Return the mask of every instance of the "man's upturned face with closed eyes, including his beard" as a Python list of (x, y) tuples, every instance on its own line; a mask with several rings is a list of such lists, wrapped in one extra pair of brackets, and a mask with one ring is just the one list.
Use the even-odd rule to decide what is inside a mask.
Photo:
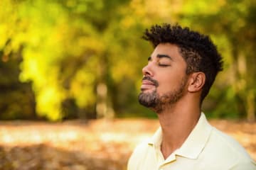
[(143, 106), (161, 113), (184, 95), (188, 79), (186, 62), (176, 45), (157, 45), (142, 72), (139, 103)]

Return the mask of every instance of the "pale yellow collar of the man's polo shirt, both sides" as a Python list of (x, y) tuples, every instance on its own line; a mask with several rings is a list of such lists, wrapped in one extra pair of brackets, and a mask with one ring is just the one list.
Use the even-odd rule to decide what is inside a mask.
[[(202, 152), (203, 148), (206, 146), (206, 142), (208, 137), (210, 136), (210, 132), (212, 130), (212, 126), (206, 120), (206, 115), (201, 113), (201, 116), (198, 120), (198, 123), (193, 128), (192, 132), (188, 135), (185, 142), (179, 149), (176, 149), (174, 154), (187, 157), (189, 159), (198, 158), (199, 154)], [(154, 133), (153, 137), (149, 139), (148, 144), (154, 147), (159, 147), (162, 141), (162, 130), (159, 128)]]

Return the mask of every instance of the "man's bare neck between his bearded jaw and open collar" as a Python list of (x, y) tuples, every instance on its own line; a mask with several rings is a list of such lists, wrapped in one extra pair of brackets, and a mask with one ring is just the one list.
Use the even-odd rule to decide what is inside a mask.
[(178, 102), (158, 113), (159, 123), (163, 132), (161, 152), (164, 159), (181, 147), (196, 126), (201, 114), (200, 107), (195, 103), (185, 102), (181, 104), (182, 101)]

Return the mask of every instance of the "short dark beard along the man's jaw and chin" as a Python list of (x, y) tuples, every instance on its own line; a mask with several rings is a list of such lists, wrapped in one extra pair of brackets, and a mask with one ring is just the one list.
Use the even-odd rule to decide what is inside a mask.
[(146, 108), (151, 108), (156, 113), (161, 113), (165, 108), (169, 108), (176, 103), (184, 95), (184, 88), (186, 86), (187, 77), (181, 79), (181, 84), (177, 89), (169, 91), (166, 94), (157, 94), (156, 89), (152, 92), (139, 94), (139, 103)]

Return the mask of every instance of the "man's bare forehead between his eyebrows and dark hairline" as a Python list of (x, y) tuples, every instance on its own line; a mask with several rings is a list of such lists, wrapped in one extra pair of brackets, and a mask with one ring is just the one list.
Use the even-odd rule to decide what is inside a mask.
[(161, 43), (157, 45), (151, 57), (156, 57), (157, 55), (169, 55), (174, 60), (183, 60), (183, 57), (181, 57), (179, 52), (179, 47), (170, 43)]

